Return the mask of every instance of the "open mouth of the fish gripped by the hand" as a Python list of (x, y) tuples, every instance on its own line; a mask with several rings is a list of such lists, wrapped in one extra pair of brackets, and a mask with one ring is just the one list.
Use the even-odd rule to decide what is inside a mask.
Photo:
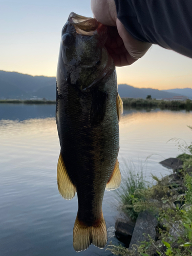
[(78, 34), (94, 35), (97, 33), (97, 29), (100, 23), (96, 18), (84, 17), (71, 12), (69, 15), (69, 22), (75, 27)]

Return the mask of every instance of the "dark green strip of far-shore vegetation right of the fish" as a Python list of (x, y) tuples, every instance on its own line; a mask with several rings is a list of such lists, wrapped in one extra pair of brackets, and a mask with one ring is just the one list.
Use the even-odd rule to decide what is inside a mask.
[(123, 106), (130, 108), (142, 109), (142, 108), (160, 108), (170, 110), (192, 110), (192, 100), (187, 99), (186, 101), (173, 100), (164, 101), (151, 99), (148, 95), (146, 99), (135, 99), (135, 98), (122, 98)]

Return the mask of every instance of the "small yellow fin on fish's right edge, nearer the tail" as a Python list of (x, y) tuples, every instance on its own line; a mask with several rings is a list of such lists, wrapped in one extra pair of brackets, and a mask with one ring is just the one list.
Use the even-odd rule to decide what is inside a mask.
[(119, 162), (117, 160), (113, 174), (110, 177), (108, 183), (106, 183), (105, 189), (106, 190), (114, 190), (114, 189), (118, 188), (120, 186), (120, 184), (121, 184), (121, 173), (119, 170)]

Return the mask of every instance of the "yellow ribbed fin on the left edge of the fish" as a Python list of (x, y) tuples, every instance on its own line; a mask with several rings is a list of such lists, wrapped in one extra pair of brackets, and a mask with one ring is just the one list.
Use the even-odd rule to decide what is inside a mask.
[(61, 153), (57, 164), (57, 185), (61, 196), (66, 200), (71, 200), (75, 196), (76, 187), (73, 185), (63, 162)]

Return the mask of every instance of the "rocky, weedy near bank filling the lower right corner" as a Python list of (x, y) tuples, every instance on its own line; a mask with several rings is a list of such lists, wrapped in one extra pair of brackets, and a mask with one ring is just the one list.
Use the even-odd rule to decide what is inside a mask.
[[(129, 220), (116, 222), (117, 237), (124, 232), (129, 244), (124, 242), (128, 248), (109, 246), (113, 254), (192, 255), (192, 144), (177, 158), (182, 165), (162, 179), (153, 176), (155, 185), (149, 185), (142, 172), (139, 175), (129, 173), (118, 193), (121, 212)], [(132, 233), (130, 226), (134, 226)]]

